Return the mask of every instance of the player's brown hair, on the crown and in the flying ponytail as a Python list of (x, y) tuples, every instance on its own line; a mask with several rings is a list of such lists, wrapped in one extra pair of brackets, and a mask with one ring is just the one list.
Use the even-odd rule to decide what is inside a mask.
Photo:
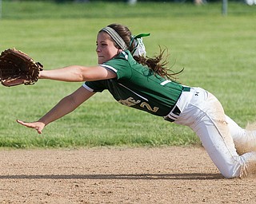
[[(130, 29), (128, 29), (126, 26), (122, 26), (120, 24), (110, 24), (110, 28), (114, 29), (120, 37), (122, 37), (122, 40), (125, 41), (128, 50), (132, 52), (134, 50), (134, 43), (130, 45), (130, 40), (132, 37), (132, 34), (130, 32)], [(119, 46), (114, 42), (114, 45), (118, 48)], [(167, 49), (161, 49), (159, 46), (159, 53), (158, 55), (154, 57), (142, 57), (142, 56), (134, 56), (134, 60), (138, 61), (139, 64), (146, 65), (150, 70), (152, 70), (154, 73), (158, 74), (161, 77), (164, 77), (166, 79), (170, 80), (177, 80), (177, 75), (179, 73), (182, 73), (183, 69), (179, 71), (178, 73), (174, 73), (174, 71), (170, 70), (167, 65), (167, 57), (169, 56), (168, 53), (166, 54)]]

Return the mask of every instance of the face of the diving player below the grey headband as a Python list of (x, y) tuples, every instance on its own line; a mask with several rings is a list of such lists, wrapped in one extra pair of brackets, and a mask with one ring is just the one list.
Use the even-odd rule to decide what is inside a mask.
[(98, 33), (96, 46), (98, 65), (109, 61), (120, 52), (120, 49), (114, 46), (114, 41), (111, 40), (110, 35), (106, 32)]

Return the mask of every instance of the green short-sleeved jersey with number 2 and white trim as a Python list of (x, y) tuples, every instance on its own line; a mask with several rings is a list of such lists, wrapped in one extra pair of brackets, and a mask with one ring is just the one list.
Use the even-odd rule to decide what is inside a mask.
[(107, 89), (120, 104), (166, 116), (182, 93), (182, 84), (166, 80), (147, 66), (134, 60), (128, 50), (100, 65), (117, 74), (110, 80), (86, 81), (84, 87), (92, 92)]

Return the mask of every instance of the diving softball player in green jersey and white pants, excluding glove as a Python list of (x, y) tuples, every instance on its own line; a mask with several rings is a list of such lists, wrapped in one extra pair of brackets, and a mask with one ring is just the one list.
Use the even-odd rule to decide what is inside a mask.
[(39, 134), (43, 128), (74, 111), (95, 92), (107, 89), (120, 104), (162, 116), (175, 124), (193, 129), (210, 159), (226, 178), (256, 173), (256, 131), (246, 131), (225, 115), (222, 105), (210, 92), (188, 87), (166, 72), (163, 52), (146, 57), (142, 38), (132, 36), (126, 26), (112, 24), (101, 29), (97, 37), (98, 65), (73, 65), (43, 70), (40, 79), (86, 81), (38, 121), (17, 120)]

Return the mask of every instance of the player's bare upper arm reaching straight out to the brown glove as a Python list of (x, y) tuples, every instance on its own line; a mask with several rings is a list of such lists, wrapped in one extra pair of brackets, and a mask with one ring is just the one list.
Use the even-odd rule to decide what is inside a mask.
[(70, 82), (106, 80), (116, 77), (116, 73), (111, 72), (101, 66), (85, 67), (72, 65), (61, 69), (42, 70), (39, 79), (62, 80)]

